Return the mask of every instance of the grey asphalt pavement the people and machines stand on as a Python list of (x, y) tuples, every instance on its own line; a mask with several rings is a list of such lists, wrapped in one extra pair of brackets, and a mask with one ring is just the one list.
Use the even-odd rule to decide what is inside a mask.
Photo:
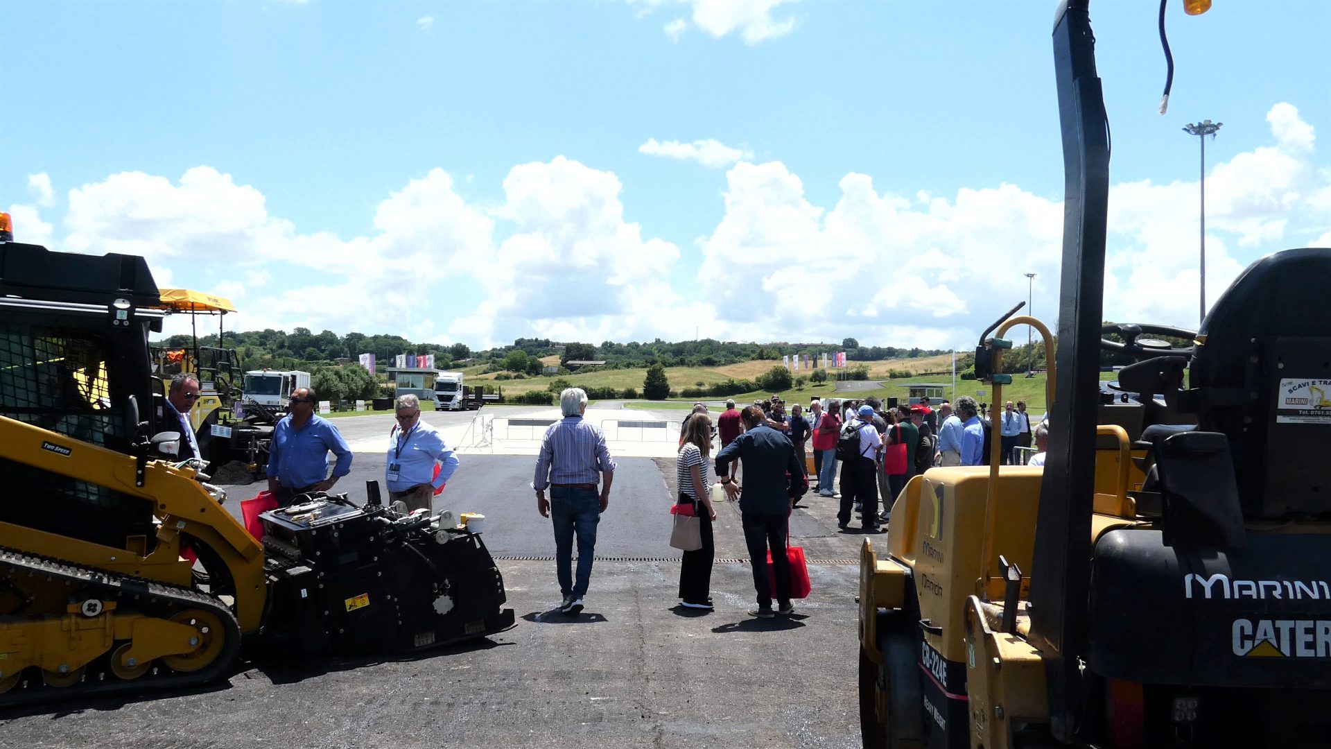
[[(510, 409), (506, 416), (518, 413)], [(676, 416), (662, 412), (663, 418)], [(446, 424), (470, 414), (431, 413)], [(389, 417), (338, 420), (349, 440)], [(836, 529), (836, 500), (805, 497), (792, 544), (813, 593), (796, 616), (753, 620), (739, 510), (719, 508), (716, 610), (677, 605), (666, 542), (673, 460), (622, 458), (598, 532), (587, 610), (560, 614), (550, 521), (527, 456), (462, 456), (437, 509), (482, 512), (518, 625), (417, 657), (242, 662), (205, 690), (0, 713), (0, 746), (817, 746), (860, 745), (856, 605), (861, 536)], [(359, 502), (382, 478), (362, 453), (335, 490)], [(668, 484), (671, 486), (668, 486)], [(260, 484), (230, 489), (228, 505)], [(538, 557), (518, 560), (514, 557)], [(843, 561), (839, 561), (843, 560)]]

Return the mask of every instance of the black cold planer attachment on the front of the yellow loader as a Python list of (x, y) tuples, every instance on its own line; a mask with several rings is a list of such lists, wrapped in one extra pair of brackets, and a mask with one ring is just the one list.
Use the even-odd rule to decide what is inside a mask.
[(401, 514), (375, 494), (365, 506), (309, 494), (261, 516), (269, 644), (405, 652), (514, 625), (503, 576), (479, 534)]

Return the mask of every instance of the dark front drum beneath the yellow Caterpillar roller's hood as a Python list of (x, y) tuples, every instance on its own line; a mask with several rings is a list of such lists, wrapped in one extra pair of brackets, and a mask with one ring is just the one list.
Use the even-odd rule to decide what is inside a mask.
[[(924, 745), (924, 693), (920, 689), (920, 642), (900, 612), (878, 612), (882, 665), (860, 648), (860, 734), (865, 749), (906, 749)], [(878, 716), (878, 692), (885, 714)]]

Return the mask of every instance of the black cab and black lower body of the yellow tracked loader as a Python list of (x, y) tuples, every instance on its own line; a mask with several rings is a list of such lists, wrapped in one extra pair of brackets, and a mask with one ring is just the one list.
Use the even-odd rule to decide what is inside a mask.
[(129, 453), (157, 430), (165, 393), (146, 343), (161, 329), (156, 301), (142, 257), (0, 243), (0, 417), (48, 434), (15, 426), (0, 445), (0, 524), (110, 545), (148, 533), (150, 506), (114, 490), (114, 477), (44, 470), (28, 454), (36, 446), (77, 468), (80, 444)]

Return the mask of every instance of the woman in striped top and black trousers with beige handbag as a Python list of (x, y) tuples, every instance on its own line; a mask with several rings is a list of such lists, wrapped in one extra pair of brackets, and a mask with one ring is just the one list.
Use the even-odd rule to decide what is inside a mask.
[(708, 593), (712, 582), (712, 558), (716, 556), (716, 546), (712, 544), (712, 521), (716, 520), (716, 509), (712, 506), (712, 497), (707, 488), (711, 485), (712, 452), (712, 420), (705, 413), (693, 413), (684, 422), (684, 442), (679, 448), (676, 461), (676, 485), (679, 486), (677, 504), (691, 505), (693, 513), (700, 518), (703, 548), (696, 552), (684, 552), (683, 562), (679, 568), (679, 597), (684, 598), (684, 606), (689, 609), (712, 609), (712, 597)]

